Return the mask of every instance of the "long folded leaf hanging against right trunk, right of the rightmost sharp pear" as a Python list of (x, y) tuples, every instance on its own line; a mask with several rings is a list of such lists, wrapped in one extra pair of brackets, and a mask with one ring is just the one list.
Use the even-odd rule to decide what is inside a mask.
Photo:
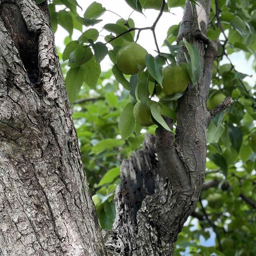
[(189, 54), (190, 54), (190, 61), (188, 60), (186, 54), (185, 57), (190, 67), (190, 74), (193, 85), (199, 80), (201, 75), (201, 65), (200, 65), (200, 56), (197, 48), (190, 44), (185, 38), (183, 38), (183, 43), (186, 46)]

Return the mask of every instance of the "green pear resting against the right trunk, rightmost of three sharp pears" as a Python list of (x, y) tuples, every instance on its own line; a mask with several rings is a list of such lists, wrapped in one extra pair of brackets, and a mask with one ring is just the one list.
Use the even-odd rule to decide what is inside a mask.
[(162, 87), (166, 95), (184, 92), (190, 81), (187, 70), (179, 65), (168, 65), (162, 69)]

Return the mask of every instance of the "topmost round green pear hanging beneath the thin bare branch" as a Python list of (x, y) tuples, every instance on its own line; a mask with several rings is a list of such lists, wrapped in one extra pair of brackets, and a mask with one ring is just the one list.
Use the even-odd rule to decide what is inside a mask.
[(146, 67), (145, 56), (148, 52), (139, 44), (131, 42), (122, 47), (116, 57), (117, 66), (124, 74), (133, 75)]

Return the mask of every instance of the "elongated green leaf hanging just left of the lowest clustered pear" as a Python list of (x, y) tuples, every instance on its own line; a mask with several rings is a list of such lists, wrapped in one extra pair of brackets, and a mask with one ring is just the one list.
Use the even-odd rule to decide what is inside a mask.
[(135, 126), (135, 119), (133, 116), (133, 105), (130, 102), (122, 111), (118, 126), (123, 139), (128, 138), (132, 133)]

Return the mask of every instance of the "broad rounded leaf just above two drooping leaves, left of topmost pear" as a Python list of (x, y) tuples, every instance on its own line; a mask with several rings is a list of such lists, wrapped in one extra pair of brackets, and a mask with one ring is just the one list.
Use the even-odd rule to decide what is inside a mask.
[(80, 44), (77, 49), (69, 55), (68, 65), (70, 67), (81, 66), (93, 58), (91, 48), (86, 45)]

